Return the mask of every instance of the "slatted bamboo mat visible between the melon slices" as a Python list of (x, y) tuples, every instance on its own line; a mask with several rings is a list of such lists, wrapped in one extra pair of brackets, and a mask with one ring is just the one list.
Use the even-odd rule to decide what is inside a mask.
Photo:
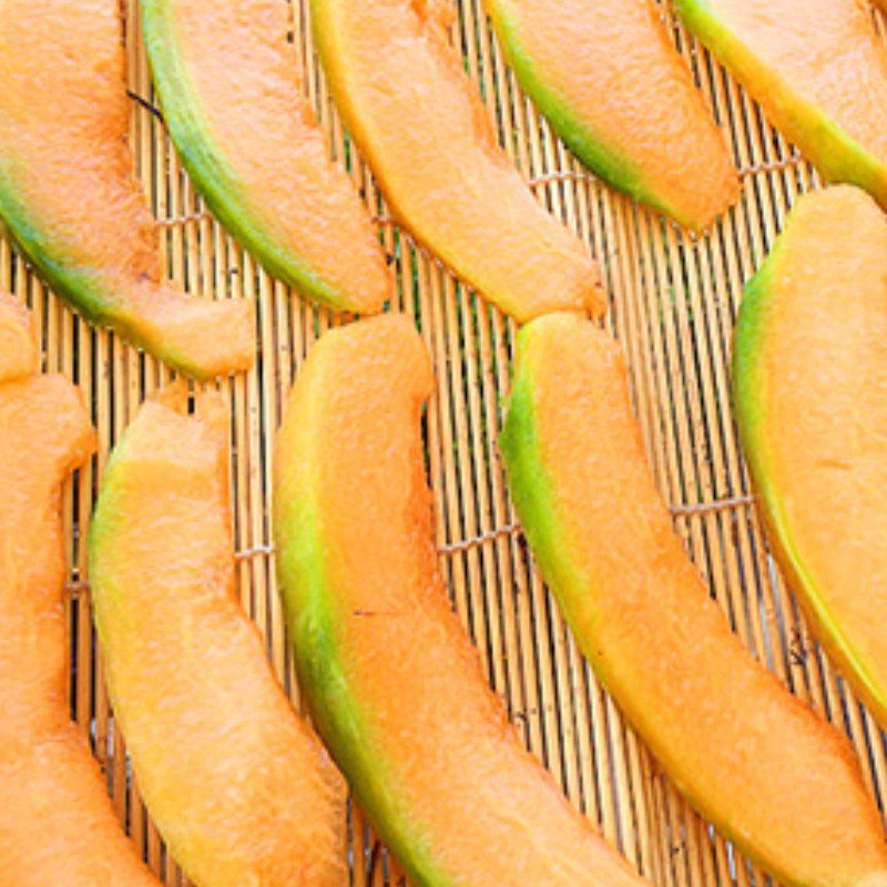
[[(150, 104), (133, 2), (124, 13), (130, 89)], [(343, 157), (346, 140), (313, 54), (305, 6), (293, 0), (293, 47), (330, 149)], [(869, 786), (881, 796), (887, 788), (883, 737), (810, 639), (766, 554), (728, 406), (731, 335), (743, 283), (761, 264), (796, 195), (816, 185), (815, 175), (707, 53), (675, 29), (744, 179), (741, 203), (711, 236), (684, 237), (582, 171), (520, 94), (478, 0), (458, 0), (458, 7), (453, 40), (480, 83), (503, 145), (539, 200), (588, 242), (605, 271), (610, 323), (629, 356), (644, 441), (677, 532), (735, 631), (793, 692), (848, 733)], [(663, 16), (673, 26), (666, 7)], [(884, 35), (879, 16), (876, 24)], [(196, 294), (256, 302), (262, 359), (248, 376), (222, 386), (232, 410), (239, 592), (266, 638), (278, 677), (295, 696), (271, 550), (271, 442), (306, 350), (333, 320), (268, 278), (232, 243), (195, 197), (162, 122), (137, 101), (132, 139), (137, 173), (166, 232), (172, 279)], [(572, 803), (656, 884), (759, 881), (761, 874), (689, 809), (626, 730), (533, 568), (496, 450), (513, 325), (477, 303), (390, 225), (359, 163), (351, 174), (378, 214), (400, 307), (417, 316), (437, 366), (427, 434), (440, 562), (496, 692)], [(100, 435), (95, 462), (65, 495), (73, 714), (106, 768), (121, 819), (150, 864), (166, 884), (185, 884), (129, 781), (103, 686), (84, 568), (89, 514), (109, 448), (167, 373), (75, 319), (7, 243), (0, 243), (0, 286), (34, 307), (48, 368), (80, 384)], [(357, 810), (349, 829), (353, 884), (400, 884), (396, 866)]]

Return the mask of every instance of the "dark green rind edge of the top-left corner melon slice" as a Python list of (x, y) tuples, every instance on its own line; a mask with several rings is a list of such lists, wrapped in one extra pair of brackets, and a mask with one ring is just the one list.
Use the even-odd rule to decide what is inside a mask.
[(172, 369), (198, 380), (208, 380), (211, 374), (195, 364), (188, 354), (171, 347), (162, 338), (146, 336), (140, 326), (142, 318), (114, 298), (112, 289), (102, 284), (99, 271), (71, 267), (68, 261), (54, 253), (52, 238), (17, 196), (12, 166), (9, 159), (0, 159), (0, 218), (10, 238), (28, 256), (43, 281), (89, 323), (114, 329)]

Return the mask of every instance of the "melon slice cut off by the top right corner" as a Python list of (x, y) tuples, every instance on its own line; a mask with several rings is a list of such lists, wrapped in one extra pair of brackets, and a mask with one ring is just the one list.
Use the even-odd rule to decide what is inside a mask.
[(859, 0), (675, 0), (826, 177), (887, 205), (887, 50)]

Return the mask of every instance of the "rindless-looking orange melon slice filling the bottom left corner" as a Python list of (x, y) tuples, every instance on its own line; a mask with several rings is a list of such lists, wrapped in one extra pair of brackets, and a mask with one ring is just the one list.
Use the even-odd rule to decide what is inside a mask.
[(0, 386), (0, 881), (159, 887), (69, 720), (61, 485), (93, 449), (61, 376)]

